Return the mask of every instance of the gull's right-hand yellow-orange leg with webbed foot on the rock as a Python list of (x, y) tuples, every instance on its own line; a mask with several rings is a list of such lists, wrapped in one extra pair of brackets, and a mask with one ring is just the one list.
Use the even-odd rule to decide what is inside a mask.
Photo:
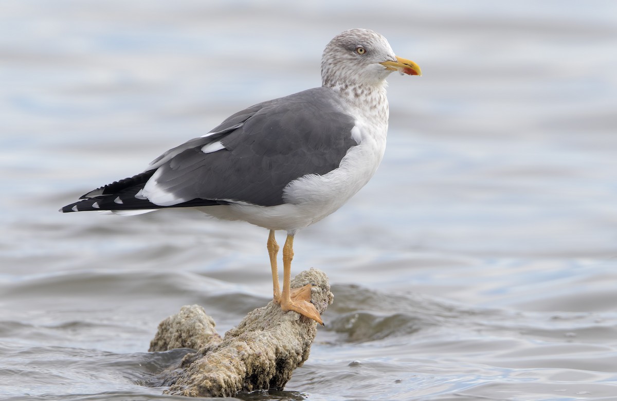
[(283, 293), (281, 294), (281, 309), (284, 312), (293, 310), (300, 315), (307, 316), (323, 325), (317, 308), (310, 302), (311, 285), (291, 290), (291, 260), (294, 258), (294, 236), (289, 235), (283, 246)]

